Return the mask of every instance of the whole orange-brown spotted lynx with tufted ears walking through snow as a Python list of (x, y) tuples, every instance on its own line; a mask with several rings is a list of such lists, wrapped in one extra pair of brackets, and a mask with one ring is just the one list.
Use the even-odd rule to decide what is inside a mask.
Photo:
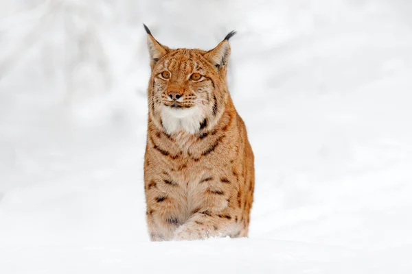
[(227, 88), (227, 34), (217, 47), (170, 49), (146, 25), (152, 74), (144, 161), (150, 239), (246, 237), (253, 151)]

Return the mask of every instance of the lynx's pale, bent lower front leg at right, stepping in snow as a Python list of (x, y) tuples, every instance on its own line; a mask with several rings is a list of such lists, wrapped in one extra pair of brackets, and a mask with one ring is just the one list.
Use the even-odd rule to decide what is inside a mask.
[[(238, 219), (236, 217), (236, 219)], [(236, 237), (240, 235), (239, 225), (229, 214), (199, 212), (174, 232), (174, 240), (201, 240), (210, 237)]]

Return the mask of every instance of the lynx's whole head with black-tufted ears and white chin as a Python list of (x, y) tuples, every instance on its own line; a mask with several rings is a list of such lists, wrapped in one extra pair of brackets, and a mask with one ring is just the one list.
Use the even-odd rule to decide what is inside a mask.
[(149, 119), (167, 134), (213, 127), (229, 99), (227, 62), (230, 32), (214, 49), (170, 49), (144, 25), (152, 75), (148, 87)]

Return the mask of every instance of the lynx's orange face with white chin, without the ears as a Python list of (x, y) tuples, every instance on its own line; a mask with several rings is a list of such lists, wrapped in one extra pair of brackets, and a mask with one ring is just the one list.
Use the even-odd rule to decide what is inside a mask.
[[(200, 53), (172, 51), (153, 71), (154, 101), (168, 134), (183, 129), (194, 134), (200, 123), (213, 113), (214, 82), (218, 75)], [(218, 91), (218, 90), (217, 90)], [(216, 96), (215, 96), (216, 97)]]

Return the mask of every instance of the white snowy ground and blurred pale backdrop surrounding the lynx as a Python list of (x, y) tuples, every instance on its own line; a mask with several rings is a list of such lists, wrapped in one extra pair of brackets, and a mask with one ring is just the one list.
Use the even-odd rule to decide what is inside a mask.
[[(412, 273), (409, 1), (13, 2), (0, 4), (0, 273)], [(141, 22), (170, 47), (238, 29), (247, 239), (148, 241)]]

